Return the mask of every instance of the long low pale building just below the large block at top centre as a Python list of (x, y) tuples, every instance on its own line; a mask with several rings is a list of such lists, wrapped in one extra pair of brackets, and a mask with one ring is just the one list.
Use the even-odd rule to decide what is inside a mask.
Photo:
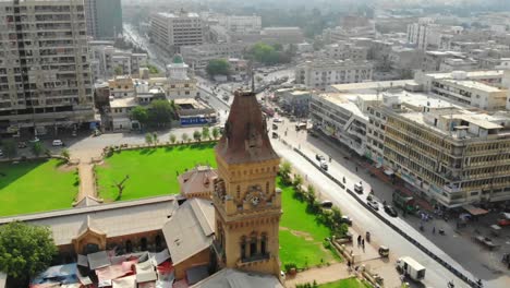
[(203, 44), (181, 47), (181, 55), (193, 69), (205, 69), (210, 60), (240, 58), (246, 49), (244, 43)]

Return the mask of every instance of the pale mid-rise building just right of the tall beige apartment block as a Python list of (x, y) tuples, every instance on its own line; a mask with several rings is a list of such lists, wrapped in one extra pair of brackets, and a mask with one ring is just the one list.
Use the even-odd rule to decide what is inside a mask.
[(147, 67), (147, 55), (119, 50), (112, 44), (112, 41), (89, 41), (94, 80), (114, 75), (138, 76), (139, 69)]

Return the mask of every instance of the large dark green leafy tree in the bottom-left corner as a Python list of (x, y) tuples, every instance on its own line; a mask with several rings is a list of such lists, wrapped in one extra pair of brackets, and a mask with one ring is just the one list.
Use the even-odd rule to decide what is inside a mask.
[(0, 271), (28, 287), (28, 280), (45, 271), (57, 254), (57, 247), (47, 227), (13, 221), (0, 226)]

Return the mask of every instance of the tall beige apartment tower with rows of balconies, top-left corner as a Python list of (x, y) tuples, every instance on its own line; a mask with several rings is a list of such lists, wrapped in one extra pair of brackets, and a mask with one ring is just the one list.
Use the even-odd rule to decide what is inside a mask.
[(94, 121), (83, 0), (0, 2), (0, 130)]

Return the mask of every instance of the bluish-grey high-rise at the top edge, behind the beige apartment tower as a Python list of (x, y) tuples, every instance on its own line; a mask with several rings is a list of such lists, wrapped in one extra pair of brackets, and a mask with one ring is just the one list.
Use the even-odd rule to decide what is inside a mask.
[(122, 34), (121, 0), (84, 0), (87, 34), (95, 39), (113, 39)]

